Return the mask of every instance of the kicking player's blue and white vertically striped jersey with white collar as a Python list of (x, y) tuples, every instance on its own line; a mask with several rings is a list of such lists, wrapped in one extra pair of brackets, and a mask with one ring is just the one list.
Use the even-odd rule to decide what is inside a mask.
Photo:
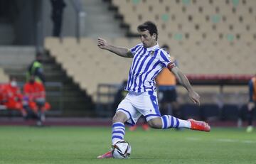
[(167, 67), (171, 62), (169, 53), (159, 48), (158, 44), (151, 48), (144, 48), (142, 43), (131, 48), (130, 51), (134, 57), (127, 86), (124, 89), (129, 92), (156, 91), (154, 79), (163, 67)]

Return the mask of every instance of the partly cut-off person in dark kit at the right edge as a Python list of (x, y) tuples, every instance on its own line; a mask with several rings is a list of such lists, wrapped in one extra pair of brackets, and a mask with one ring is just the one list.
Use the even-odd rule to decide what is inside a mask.
[(256, 75), (252, 77), (248, 85), (249, 85), (249, 103), (247, 104), (247, 108), (248, 108), (249, 114), (248, 114), (248, 126), (246, 131), (250, 133), (253, 130), (252, 121), (253, 121), (253, 114), (255, 111), (255, 104), (256, 104)]

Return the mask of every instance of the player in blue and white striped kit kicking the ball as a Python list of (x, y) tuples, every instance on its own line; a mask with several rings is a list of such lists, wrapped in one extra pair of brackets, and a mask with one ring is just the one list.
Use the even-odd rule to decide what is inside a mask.
[[(142, 43), (131, 49), (110, 45), (103, 38), (98, 38), (97, 40), (99, 48), (109, 50), (124, 58), (133, 58), (127, 86), (125, 87), (125, 90), (129, 93), (120, 102), (112, 119), (112, 145), (117, 141), (124, 141), (124, 123), (136, 124), (141, 115), (146, 117), (149, 126), (154, 129), (187, 128), (210, 131), (210, 126), (203, 121), (182, 120), (171, 115), (161, 116), (157, 104), (154, 78), (163, 67), (167, 67), (178, 77), (180, 83), (187, 89), (188, 97), (192, 102), (200, 104), (200, 97), (193, 90), (186, 76), (169, 59), (170, 55), (162, 48), (159, 48), (156, 25), (151, 21), (146, 21), (139, 25), (137, 30)], [(112, 158), (112, 151), (108, 151), (97, 158)]]

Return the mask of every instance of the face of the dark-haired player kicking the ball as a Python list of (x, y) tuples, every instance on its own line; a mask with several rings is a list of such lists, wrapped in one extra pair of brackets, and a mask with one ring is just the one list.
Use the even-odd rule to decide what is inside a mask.
[(145, 48), (156, 45), (156, 34), (150, 35), (149, 31), (139, 31), (139, 35)]

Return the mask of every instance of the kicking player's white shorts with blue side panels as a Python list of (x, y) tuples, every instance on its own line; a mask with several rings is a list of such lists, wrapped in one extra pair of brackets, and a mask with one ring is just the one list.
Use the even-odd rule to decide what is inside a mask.
[(140, 116), (145, 116), (146, 121), (161, 116), (157, 102), (156, 92), (129, 92), (120, 102), (117, 111), (127, 115), (127, 124), (136, 124)]

